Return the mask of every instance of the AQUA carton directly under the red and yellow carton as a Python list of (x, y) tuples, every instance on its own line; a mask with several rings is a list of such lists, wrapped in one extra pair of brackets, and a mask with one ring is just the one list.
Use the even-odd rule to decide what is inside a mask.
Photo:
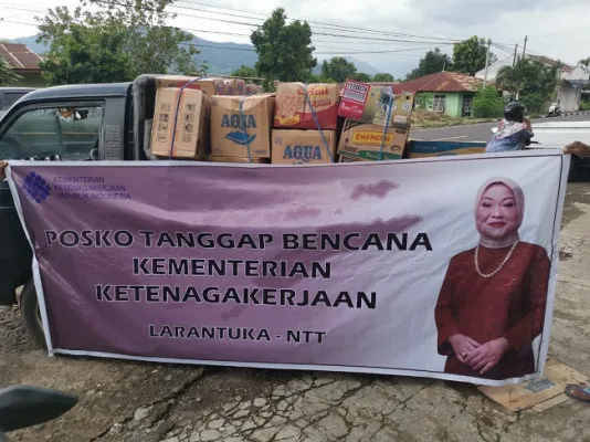
[(336, 131), (274, 129), (272, 144), (273, 164), (276, 165), (313, 165), (329, 164), (336, 158)]

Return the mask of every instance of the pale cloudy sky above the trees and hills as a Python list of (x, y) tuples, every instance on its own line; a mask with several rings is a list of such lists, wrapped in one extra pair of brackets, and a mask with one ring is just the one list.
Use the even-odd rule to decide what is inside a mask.
[[(213, 7), (207, 0), (178, 0), (169, 10), (179, 14), (170, 24), (202, 39), (250, 43), (255, 24), (283, 7), (289, 19), (310, 22), (317, 59), (352, 56), (398, 77), (415, 67), (428, 50), (440, 48), (451, 54), (452, 42), (472, 35), (491, 39), (492, 52), (499, 59), (514, 53), (515, 44), (521, 52), (528, 36), (527, 53), (576, 64), (590, 56), (587, 1), (219, 0)], [(48, 8), (77, 4), (77, 0), (0, 0), (0, 39), (33, 35), (36, 29), (29, 24), (35, 23), (35, 15), (44, 15)]]

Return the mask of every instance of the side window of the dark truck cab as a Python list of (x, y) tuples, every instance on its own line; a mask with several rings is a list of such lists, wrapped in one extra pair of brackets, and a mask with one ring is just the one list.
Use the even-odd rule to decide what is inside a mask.
[(0, 158), (28, 159), (59, 155), (85, 160), (98, 147), (102, 106), (46, 107), (22, 113), (0, 137)]

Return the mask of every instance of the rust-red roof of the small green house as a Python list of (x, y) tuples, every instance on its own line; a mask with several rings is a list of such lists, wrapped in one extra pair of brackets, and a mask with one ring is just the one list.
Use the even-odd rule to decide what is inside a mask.
[(482, 80), (471, 75), (444, 71), (397, 83), (394, 92), (476, 92), (482, 83)]

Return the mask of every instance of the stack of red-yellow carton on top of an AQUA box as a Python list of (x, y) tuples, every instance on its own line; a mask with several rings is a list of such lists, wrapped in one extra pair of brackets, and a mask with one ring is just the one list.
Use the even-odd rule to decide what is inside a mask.
[(339, 102), (337, 84), (280, 83), (272, 162), (331, 162), (336, 157)]

